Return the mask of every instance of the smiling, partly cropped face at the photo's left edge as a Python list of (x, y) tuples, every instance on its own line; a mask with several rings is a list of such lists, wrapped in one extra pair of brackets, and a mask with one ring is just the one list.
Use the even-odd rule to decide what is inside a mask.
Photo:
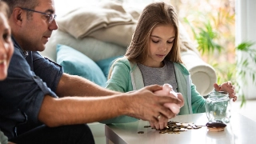
[(10, 58), (14, 53), (14, 45), (10, 35), (8, 20), (0, 12), (0, 80), (6, 78)]

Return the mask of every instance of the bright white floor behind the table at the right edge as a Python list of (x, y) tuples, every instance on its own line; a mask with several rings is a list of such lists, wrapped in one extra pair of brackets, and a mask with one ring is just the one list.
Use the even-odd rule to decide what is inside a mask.
[(254, 100), (247, 100), (246, 104), (240, 107), (241, 101), (232, 102), (232, 110), (238, 112), (239, 114), (244, 115), (247, 118), (250, 118), (256, 122), (256, 99)]

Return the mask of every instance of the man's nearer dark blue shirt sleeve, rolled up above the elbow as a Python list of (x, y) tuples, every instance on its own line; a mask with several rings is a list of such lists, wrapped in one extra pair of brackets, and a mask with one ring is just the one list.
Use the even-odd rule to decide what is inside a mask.
[(30, 70), (21, 50), (14, 48), (8, 76), (0, 82), (0, 110), (22, 111), (32, 122), (38, 122), (38, 113), (44, 96), (57, 95), (46, 86), (41, 78)]

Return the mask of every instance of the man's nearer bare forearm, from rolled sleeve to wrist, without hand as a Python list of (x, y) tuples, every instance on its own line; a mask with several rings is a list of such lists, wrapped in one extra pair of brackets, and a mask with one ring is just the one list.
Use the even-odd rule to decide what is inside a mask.
[(63, 126), (88, 122), (98, 122), (128, 114), (126, 96), (106, 98), (46, 96), (38, 114), (38, 119), (46, 126)]

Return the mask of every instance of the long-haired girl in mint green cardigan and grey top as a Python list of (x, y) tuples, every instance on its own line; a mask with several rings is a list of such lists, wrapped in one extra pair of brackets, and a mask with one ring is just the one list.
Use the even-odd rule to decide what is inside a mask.
[[(106, 88), (128, 92), (152, 84), (169, 83), (184, 98), (180, 115), (205, 112), (206, 100), (191, 82), (190, 73), (182, 64), (180, 49), (178, 16), (174, 7), (164, 2), (151, 3), (142, 11), (125, 56), (110, 67)], [(231, 82), (221, 86), (214, 83), (214, 88), (228, 92), (235, 101)], [(104, 123), (136, 120), (122, 116)]]

